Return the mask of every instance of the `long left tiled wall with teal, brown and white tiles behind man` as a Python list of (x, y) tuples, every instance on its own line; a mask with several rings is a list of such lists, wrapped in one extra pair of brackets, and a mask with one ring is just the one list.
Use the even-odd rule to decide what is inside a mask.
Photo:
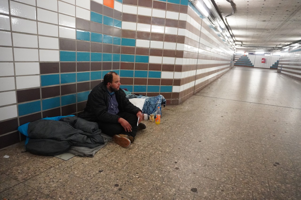
[(0, 22), (0, 149), (24, 123), (80, 113), (108, 71), (179, 104), (234, 64), (188, 0), (1, 0)]

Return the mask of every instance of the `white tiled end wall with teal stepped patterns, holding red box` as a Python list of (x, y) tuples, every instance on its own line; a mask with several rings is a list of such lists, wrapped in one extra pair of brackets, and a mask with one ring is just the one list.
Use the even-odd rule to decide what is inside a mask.
[[(265, 58), (265, 63), (261, 59)], [(235, 55), (235, 66), (242, 67), (257, 67), (257, 68), (277, 68), (280, 56), (265, 56), (265, 55)]]

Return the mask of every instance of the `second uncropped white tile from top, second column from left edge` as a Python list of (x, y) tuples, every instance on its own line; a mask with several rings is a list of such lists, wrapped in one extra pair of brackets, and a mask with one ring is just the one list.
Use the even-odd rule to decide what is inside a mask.
[(20, 18), (11, 17), (11, 29), (13, 31), (25, 33), (37, 33), (36, 21), (23, 20)]

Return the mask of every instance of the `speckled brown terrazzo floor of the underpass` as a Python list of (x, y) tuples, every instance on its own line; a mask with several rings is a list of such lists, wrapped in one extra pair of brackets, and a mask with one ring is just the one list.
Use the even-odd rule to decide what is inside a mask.
[(161, 124), (145, 122), (130, 147), (111, 142), (68, 161), (2, 150), (0, 197), (300, 200), (300, 85), (275, 70), (233, 68), (163, 108)]

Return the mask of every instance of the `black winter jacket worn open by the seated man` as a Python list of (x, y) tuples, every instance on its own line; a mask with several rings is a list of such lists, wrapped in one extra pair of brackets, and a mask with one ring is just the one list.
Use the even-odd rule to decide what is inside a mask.
[[(118, 115), (113, 115), (107, 112), (109, 108), (109, 96), (107, 86), (101, 82), (95, 86), (88, 95), (88, 101), (84, 113), (79, 117), (91, 122), (103, 123), (118, 123)], [(141, 111), (138, 107), (133, 105), (122, 89), (115, 92), (116, 100), (118, 102), (119, 111), (136, 114)]]

